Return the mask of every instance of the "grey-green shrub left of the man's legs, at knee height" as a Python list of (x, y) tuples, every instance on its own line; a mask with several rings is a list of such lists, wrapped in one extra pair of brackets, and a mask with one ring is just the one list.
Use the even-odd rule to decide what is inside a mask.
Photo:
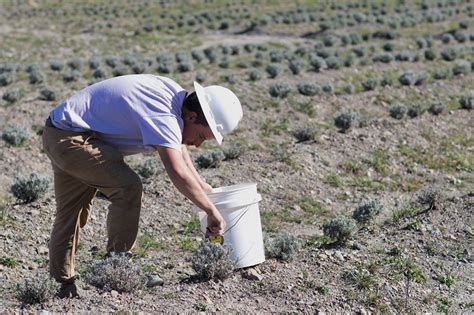
[(10, 190), (19, 200), (32, 202), (42, 197), (48, 191), (48, 188), (48, 177), (31, 173), (29, 177), (16, 177)]

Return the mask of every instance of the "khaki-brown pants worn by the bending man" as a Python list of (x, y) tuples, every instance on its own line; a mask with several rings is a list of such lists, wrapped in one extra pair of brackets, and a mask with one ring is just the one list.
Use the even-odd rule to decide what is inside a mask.
[(79, 231), (87, 223), (97, 190), (111, 202), (107, 215), (108, 252), (132, 249), (142, 200), (140, 177), (123, 156), (91, 133), (46, 126), (43, 146), (54, 171), (56, 218), (49, 243), (51, 276), (74, 282)]

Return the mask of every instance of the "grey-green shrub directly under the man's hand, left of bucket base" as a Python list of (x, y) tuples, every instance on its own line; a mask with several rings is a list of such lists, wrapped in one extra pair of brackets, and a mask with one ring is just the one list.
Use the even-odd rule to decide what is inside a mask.
[(202, 280), (224, 280), (234, 271), (230, 248), (226, 245), (204, 241), (188, 259), (196, 276)]

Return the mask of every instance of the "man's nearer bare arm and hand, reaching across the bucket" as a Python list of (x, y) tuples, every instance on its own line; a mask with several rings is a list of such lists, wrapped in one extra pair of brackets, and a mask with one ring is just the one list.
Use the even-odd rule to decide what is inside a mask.
[(223, 234), (225, 221), (189, 169), (183, 154), (178, 150), (167, 147), (158, 147), (158, 153), (168, 176), (176, 188), (207, 213), (207, 225), (211, 235)]

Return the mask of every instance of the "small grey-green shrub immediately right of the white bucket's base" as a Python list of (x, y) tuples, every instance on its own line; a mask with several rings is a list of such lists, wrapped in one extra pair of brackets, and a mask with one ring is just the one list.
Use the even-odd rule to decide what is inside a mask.
[(291, 234), (280, 234), (265, 242), (265, 252), (269, 258), (292, 261), (301, 248), (300, 240)]

